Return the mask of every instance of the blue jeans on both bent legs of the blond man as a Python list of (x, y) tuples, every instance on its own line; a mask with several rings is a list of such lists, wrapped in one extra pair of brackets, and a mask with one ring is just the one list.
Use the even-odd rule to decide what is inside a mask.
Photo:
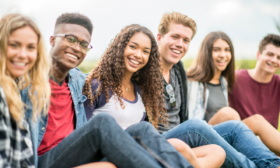
[(191, 119), (162, 134), (177, 138), (190, 148), (217, 144), (226, 153), (222, 167), (279, 167), (276, 157), (241, 121), (231, 120), (212, 127), (205, 121)]

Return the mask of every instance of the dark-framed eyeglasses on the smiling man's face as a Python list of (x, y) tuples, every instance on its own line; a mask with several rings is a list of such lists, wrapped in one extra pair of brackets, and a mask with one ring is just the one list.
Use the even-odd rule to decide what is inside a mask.
[(53, 36), (64, 36), (65, 37), (66, 45), (68, 45), (69, 47), (73, 47), (78, 42), (80, 42), (80, 51), (85, 53), (85, 54), (88, 51), (90, 51), (90, 49), (92, 49), (92, 45), (90, 45), (87, 42), (78, 41), (78, 39), (75, 36), (71, 35), (71, 34), (55, 34)]

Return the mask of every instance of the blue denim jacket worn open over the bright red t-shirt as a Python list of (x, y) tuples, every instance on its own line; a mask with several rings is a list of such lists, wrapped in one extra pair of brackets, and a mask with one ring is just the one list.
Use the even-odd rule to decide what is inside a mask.
[[(85, 117), (85, 109), (83, 107), (83, 102), (87, 99), (82, 93), (83, 85), (85, 84), (85, 75), (80, 69), (75, 68), (69, 71), (69, 89), (71, 91), (71, 97), (73, 99), (75, 114), (76, 114), (76, 128), (84, 125), (87, 122)], [(32, 104), (28, 97), (28, 88), (25, 90), (21, 90), (20, 92), (22, 97), (22, 102), (24, 102), (27, 106), (25, 108), (25, 118), (29, 123), (30, 132), (31, 132), (31, 140), (33, 143), (33, 151), (35, 156), (35, 165), (38, 165), (38, 157), (37, 157), (37, 148), (41, 144), (43, 139), (43, 135), (45, 134), (45, 128), (48, 123), (48, 116), (41, 117), (41, 120), (38, 119), (38, 122), (32, 122)]]

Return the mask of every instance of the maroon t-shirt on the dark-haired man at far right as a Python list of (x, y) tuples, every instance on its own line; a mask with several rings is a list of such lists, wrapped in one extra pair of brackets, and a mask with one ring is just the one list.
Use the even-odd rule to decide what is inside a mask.
[(262, 115), (275, 128), (280, 112), (280, 76), (274, 74), (269, 83), (258, 83), (249, 76), (248, 70), (235, 71), (235, 86), (228, 94), (230, 106), (241, 119), (253, 114)]

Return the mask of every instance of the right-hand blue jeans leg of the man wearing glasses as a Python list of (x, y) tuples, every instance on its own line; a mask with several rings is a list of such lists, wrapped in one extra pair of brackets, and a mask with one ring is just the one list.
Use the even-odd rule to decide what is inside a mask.
[(148, 122), (141, 122), (132, 125), (126, 130), (139, 144), (146, 148), (146, 151), (152, 151), (154, 158), (159, 158), (165, 167), (193, 167), (190, 162), (179, 153), (169, 142), (163, 138), (160, 133)]

